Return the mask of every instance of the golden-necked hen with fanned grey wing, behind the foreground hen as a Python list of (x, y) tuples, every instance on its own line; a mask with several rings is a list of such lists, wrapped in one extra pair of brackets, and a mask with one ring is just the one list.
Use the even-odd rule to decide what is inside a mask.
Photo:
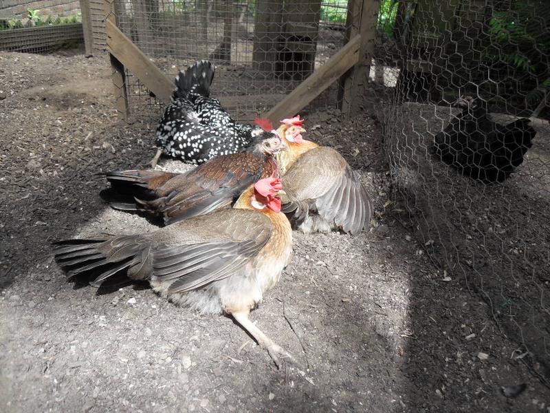
[(289, 150), (278, 153), (283, 211), (305, 233), (341, 229), (360, 233), (371, 221), (371, 199), (340, 153), (303, 139), (299, 116), (277, 129)]

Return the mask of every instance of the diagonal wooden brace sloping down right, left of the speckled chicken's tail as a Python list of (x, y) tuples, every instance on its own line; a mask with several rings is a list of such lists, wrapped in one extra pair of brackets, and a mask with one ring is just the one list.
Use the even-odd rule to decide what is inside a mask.
[(168, 104), (174, 84), (149, 58), (110, 20), (105, 22), (107, 47), (126, 69), (157, 96)]

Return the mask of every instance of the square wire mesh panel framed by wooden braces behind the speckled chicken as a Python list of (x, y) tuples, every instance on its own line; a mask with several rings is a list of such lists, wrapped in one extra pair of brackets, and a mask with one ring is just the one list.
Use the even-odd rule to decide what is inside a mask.
[[(344, 45), (342, 0), (117, 0), (118, 28), (174, 78), (200, 59), (216, 65), (212, 96), (238, 119), (266, 112)], [(132, 114), (163, 105), (126, 71)], [(336, 107), (338, 85), (317, 107)], [(223, 97), (226, 97), (223, 100)]]

